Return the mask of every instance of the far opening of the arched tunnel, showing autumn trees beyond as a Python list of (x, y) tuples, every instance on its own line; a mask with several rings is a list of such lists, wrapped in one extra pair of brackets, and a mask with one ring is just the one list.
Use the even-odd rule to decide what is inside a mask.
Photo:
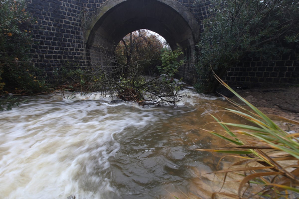
[(158, 33), (147, 29), (136, 30), (123, 37), (115, 47), (115, 61), (122, 71), (129, 67), (141, 75), (155, 76), (161, 66), (161, 52), (170, 49)]

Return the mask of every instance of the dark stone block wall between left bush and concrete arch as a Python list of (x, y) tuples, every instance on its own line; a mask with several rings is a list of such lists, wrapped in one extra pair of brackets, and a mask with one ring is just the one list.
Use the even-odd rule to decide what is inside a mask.
[(32, 30), (33, 62), (45, 71), (46, 80), (53, 79), (53, 71), (62, 66), (86, 65), (79, 1), (29, 0), (27, 9), (36, 19)]

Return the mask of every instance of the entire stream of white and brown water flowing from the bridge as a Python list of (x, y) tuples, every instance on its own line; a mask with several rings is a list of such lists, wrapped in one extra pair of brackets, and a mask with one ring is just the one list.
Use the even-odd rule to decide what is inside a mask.
[(206, 173), (230, 160), (194, 150), (225, 144), (201, 128), (222, 131), (210, 113), (239, 118), (222, 98), (183, 92), (175, 108), (57, 93), (1, 112), (0, 198), (210, 198), (221, 179)]

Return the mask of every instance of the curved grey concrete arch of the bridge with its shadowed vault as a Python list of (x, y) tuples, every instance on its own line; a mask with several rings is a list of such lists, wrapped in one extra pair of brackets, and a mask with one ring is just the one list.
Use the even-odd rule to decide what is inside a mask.
[(187, 57), (199, 41), (198, 22), (173, 0), (109, 0), (95, 13), (84, 32), (92, 64), (103, 65), (102, 50), (112, 50), (124, 36), (139, 29), (158, 33), (172, 49), (179, 44)]

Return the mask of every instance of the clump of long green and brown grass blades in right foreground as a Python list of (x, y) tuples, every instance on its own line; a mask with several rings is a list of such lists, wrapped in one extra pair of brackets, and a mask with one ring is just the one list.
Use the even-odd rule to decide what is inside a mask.
[[(228, 153), (227, 156), (238, 157), (241, 160), (233, 163), (230, 168), (214, 173), (242, 172), (242, 180), (239, 181), (237, 194), (217, 192), (217, 196), (229, 196), (232, 198), (298, 198), (299, 196), (299, 133), (290, 134), (281, 129), (263, 112), (254, 107), (237, 94), (220, 78), (218, 81), (248, 107), (241, 106), (231, 100), (237, 109), (225, 108), (225, 111), (245, 118), (251, 125), (226, 123), (215, 116), (212, 117), (225, 129), (225, 135), (209, 131), (211, 134), (229, 141), (230, 144), (221, 149), (197, 149), (200, 151)], [(299, 122), (295, 122), (299, 124)], [(231, 130), (237, 129), (237, 130)], [(253, 184), (259, 184), (260, 189), (255, 193), (246, 190)]]

